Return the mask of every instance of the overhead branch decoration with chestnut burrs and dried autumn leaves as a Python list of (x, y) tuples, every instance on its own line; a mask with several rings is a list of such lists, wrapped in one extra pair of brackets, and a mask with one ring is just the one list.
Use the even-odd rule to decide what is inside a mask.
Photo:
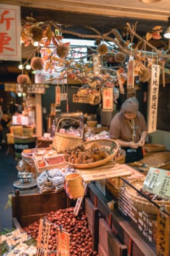
[[(80, 81), (82, 86), (78, 93), (97, 95), (96, 100), (92, 100), (92, 104), (98, 104), (104, 87), (116, 88), (119, 93), (124, 93), (120, 90), (120, 83), (124, 85), (127, 81), (127, 62), (131, 58), (134, 60), (134, 74), (142, 83), (150, 80), (151, 66), (154, 63), (160, 65), (162, 72), (166, 72), (166, 68), (163, 67), (170, 55), (149, 42), (151, 38), (155, 40), (162, 38), (162, 27), (154, 27), (152, 31), (146, 33), (145, 38), (141, 38), (136, 33), (137, 22), (132, 26), (127, 22), (125, 27), (122, 33), (126, 33), (130, 38), (126, 41), (115, 28), (103, 34), (96, 28), (86, 26), (91, 32), (88, 35), (67, 31), (66, 26), (58, 25), (57, 22), (37, 22), (33, 17), (27, 17), (21, 28), (22, 42), (25, 47), (38, 42), (38, 47), (31, 52), (26, 62), (31, 60), (32, 70), (45, 70), (49, 74), (52, 74), (56, 68), (60, 68), (64, 76), (54, 77), (51, 80), (71, 78)], [(64, 42), (63, 34), (93, 39), (96, 42), (95, 47), (87, 46), (87, 52), (80, 52), (80, 49), (77, 50), (77, 47), (71, 46), (70, 42)], [(134, 37), (138, 39), (135, 49), (132, 48)], [(146, 46), (150, 51), (146, 51)], [(75, 60), (75, 55), (81, 57)], [(94, 56), (98, 56), (100, 62), (98, 75), (94, 74)], [(108, 64), (110, 58), (114, 65)], [(24, 69), (17, 77), (17, 83), (30, 83), (29, 76), (24, 74)]]

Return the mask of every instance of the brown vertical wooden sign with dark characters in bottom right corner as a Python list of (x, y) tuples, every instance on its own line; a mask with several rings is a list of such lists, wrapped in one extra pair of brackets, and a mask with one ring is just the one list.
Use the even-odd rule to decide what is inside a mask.
[(157, 215), (157, 255), (170, 255), (170, 218), (161, 211)]

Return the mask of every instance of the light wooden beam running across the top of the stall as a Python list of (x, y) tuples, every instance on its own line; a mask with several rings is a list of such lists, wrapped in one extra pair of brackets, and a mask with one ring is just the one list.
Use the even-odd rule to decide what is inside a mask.
[[(111, 3), (104, 3), (99, 0), (96, 3), (85, 3), (85, 1), (45, 1), (45, 0), (1, 0), (1, 4), (19, 5), (29, 8), (43, 8), (46, 10), (61, 10), (66, 12), (89, 13), (94, 15), (104, 15), (110, 17), (136, 17), (136, 19), (166, 21), (169, 12), (161, 12), (161, 10), (150, 10), (141, 8), (132, 8), (129, 6), (114, 6)], [(135, 5), (134, 5), (135, 6)], [(103, 12), (104, 10), (104, 12)]]

